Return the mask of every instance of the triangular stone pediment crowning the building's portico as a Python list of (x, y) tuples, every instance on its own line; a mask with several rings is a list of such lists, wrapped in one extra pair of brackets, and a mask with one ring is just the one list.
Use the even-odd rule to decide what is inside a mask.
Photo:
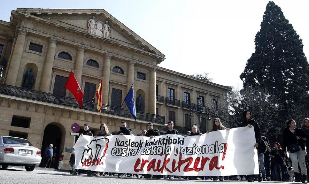
[[(165, 57), (165, 55), (159, 50), (143, 40), (134, 31), (130, 30), (103, 9), (18, 8), (17, 13), (39, 17), (55, 24), (66, 26), (78, 31), (83, 31), (85, 34), (99, 36), (122, 45), (127, 45), (138, 50), (144, 50), (146, 52), (157, 54), (160, 57)], [(106, 21), (108, 21), (108, 23)]]

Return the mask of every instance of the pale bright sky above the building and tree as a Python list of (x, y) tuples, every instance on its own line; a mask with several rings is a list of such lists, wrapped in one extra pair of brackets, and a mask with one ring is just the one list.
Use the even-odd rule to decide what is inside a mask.
[[(268, 0), (14, 0), (3, 1), (0, 20), (17, 8), (104, 9), (166, 59), (158, 66), (187, 75), (208, 73), (213, 83), (242, 87), (239, 75), (255, 51), (254, 38)], [(309, 1), (274, 0), (309, 54)]]

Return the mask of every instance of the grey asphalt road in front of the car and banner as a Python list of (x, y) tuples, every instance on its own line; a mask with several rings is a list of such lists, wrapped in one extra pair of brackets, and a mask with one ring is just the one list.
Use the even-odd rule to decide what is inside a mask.
[[(164, 179), (141, 179), (136, 177), (118, 178), (71, 175), (67, 170), (36, 168), (27, 172), (23, 167), (0, 168), (0, 183), (235, 183), (235, 181), (198, 181), (198, 180), (164, 180)], [(238, 183), (248, 183), (240, 181)], [(253, 182), (252, 182), (253, 183)], [(254, 183), (288, 183), (288, 182), (254, 182)]]

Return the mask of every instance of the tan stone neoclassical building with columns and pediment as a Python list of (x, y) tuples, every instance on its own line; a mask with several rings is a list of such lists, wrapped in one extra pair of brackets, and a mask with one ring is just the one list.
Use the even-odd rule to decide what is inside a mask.
[[(147, 129), (148, 122), (164, 132), (168, 120), (182, 134), (193, 123), (209, 130), (215, 114), (209, 119), (207, 113), (211, 108), (220, 111), (230, 90), (157, 66), (165, 55), (105, 10), (17, 9), (0, 27), (0, 67), (5, 69), (0, 135), (28, 139), (43, 150), (42, 158), (45, 148), (54, 144), (55, 168), (61, 150), (63, 168), (69, 168), (73, 123), (89, 123), (94, 134), (102, 122), (116, 132), (122, 120), (135, 135)], [(83, 108), (64, 88), (71, 70), (85, 94)], [(100, 113), (94, 94), (101, 77)], [(133, 83), (135, 98), (141, 97), (136, 121), (121, 106)], [(199, 110), (201, 117), (194, 114)]]

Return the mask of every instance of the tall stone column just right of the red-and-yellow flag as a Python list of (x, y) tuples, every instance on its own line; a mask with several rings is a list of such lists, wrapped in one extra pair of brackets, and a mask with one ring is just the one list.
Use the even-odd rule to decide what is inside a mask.
[(110, 55), (104, 57), (103, 62), (103, 98), (102, 104), (108, 104), (108, 92), (110, 90)]

